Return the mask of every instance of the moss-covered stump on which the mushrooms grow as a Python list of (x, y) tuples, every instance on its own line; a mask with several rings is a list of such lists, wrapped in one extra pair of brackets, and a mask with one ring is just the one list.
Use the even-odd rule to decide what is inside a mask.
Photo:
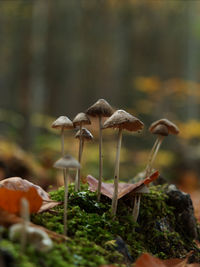
[[(141, 199), (138, 222), (132, 219), (132, 201), (119, 201), (116, 218), (110, 215), (111, 201), (82, 188), (75, 193), (69, 188), (68, 236), (66, 243), (54, 244), (49, 253), (38, 252), (28, 245), (24, 254), (20, 246), (3, 234), (1, 248), (10, 252), (20, 267), (70, 267), (116, 264), (126, 266), (142, 252), (159, 258), (182, 258), (193, 250), (191, 261), (200, 261), (200, 251), (184, 229), (184, 221), (178, 221), (176, 209), (169, 205), (166, 186), (150, 187), (150, 194)], [(63, 201), (64, 189), (51, 192), (51, 197)], [(63, 232), (63, 206), (32, 217), (36, 224), (57, 233)], [(199, 233), (198, 233), (199, 234)], [(198, 236), (199, 238), (199, 236)]]

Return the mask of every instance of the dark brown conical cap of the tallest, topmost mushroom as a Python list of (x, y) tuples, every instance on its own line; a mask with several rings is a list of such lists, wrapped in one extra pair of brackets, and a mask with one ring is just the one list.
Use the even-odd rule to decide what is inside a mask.
[(92, 117), (110, 117), (113, 114), (113, 108), (105, 99), (99, 99), (85, 113)]

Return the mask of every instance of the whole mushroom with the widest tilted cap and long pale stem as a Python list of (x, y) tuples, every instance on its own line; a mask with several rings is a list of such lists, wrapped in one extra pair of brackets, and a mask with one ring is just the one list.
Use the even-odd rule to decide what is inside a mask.
[(143, 128), (144, 124), (124, 110), (117, 110), (113, 115), (108, 118), (103, 128), (118, 128), (118, 142), (117, 142), (117, 153), (115, 159), (115, 172), (114, 172), (114, 193), (112, 198), (112, 214), (115, 215), (117, 211), (118, 201), (118, 183), (119, 183), (119, 161), (120, 161), (120, 149), (122, 141), (122, 130), (128, 130), (131, 132), (139, 131)]

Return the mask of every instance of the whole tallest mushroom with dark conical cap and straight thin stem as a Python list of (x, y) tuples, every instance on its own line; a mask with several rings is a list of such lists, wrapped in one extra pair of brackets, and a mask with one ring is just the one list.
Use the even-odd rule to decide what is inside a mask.
[(97, 199), (99, 201), (102, 183), (102, 117), (110, 117), (113, 114), (113, 109), (106, 100), (99, 99), (86, 110), (86, 114), (99, 119), (99, 182), (97, 190)]

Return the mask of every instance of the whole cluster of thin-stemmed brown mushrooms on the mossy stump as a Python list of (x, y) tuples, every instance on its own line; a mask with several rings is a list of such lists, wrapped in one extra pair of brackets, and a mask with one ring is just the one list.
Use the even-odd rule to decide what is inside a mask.
[[(130, 113), (124, 110), (114, 111), (110, 104), (104, 100), (99, 99), (91, 107), (89, 107), (85, 113), (78, 113), (74, 118), (73, 122), (69, 118), (61, 116), (53, 124), (53, 128), (61, 129), (61, 151), (62, 158), (59, 159), (54, 167), (63, 169), (63, 176), (65, 181), (65, 200), (64, 200), (64, 233), (67, 232), (67, 195), (68, 195), (68, 179), (67, 179), (67, 170), (69, 168), (77, 169), (76, 179), (75, 179), (75, 191), (80, 190), (80, 164), (81, 157), (83, 153), (84, 140), (92, 140), (92, 134), (86, 129), (83, 128), (84, 125), (91, 124), (88, 116), (97, 117), (99, 121), (99, 177), (98, 177), (98, 188), (97, 188), (97, 199), (100, 200), (101, 196), (101, 184), (102, 184), (102, 130), (106, 128), (115, 128), (118, 129), (118, 142), (117, 142), (117, 152), (115, 159), (115, 169), (114, 169), (114, 193), (112, 197), (112, 214), (115, 215), (117, 211), (117, 202), (118, 202), (118, 183), (119, 183), (119, 163), (120, 163), (120, 149), (122, 142), (122, 130), (128, 130), (131, 132), (140, 132), (144, 124), (136, 117), (132, 116)], [(107, 118), (102, 123), (102, 118)], [(71, 156), (64, 155), (64, 129), (72, 129), (79, 127), (76, 137), (79, 138), (79, 155), (78, 161), (76, 161)], [(178, 134), (179, 130), (177, 126), (171, 123), (167, 119), (161, 119), (154, 122), (150, 128), (150, 132), (157, 134), (158, 138), (151, 150), (148, 164), (146, 167), (145, 177), (149, 177), (152, 173), (152, 165), (155, 160), (155, 157), (158, 153), (159, 147), (163, 141), (164, 136), (167, 136), (169, 133)], [(135, 200), (135, 206), (138, 206), (139, 198)], [(136, 211), (137, 213), (137, 211)]]

